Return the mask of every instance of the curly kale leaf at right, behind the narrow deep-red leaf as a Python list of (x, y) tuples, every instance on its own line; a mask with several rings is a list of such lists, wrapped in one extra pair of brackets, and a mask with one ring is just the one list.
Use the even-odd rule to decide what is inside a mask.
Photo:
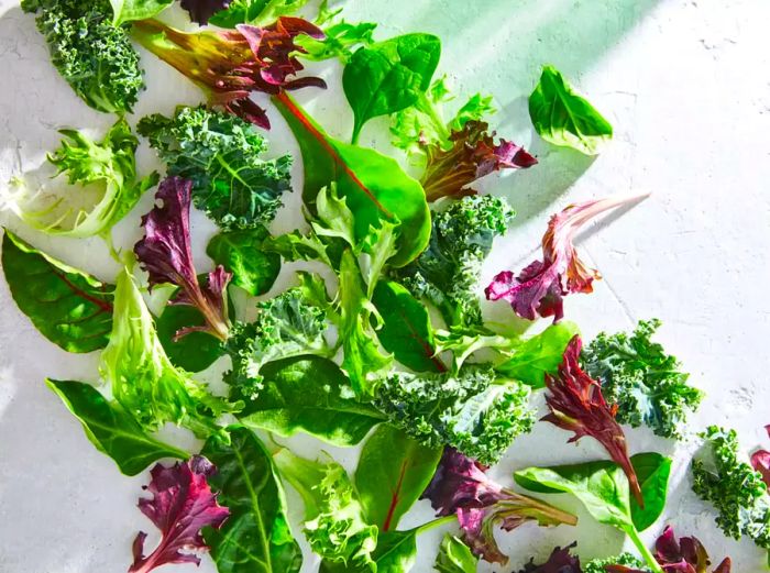
[(583, 350), (581, 362), (601, 381), (607, 401), (618, 405), (619, 422), (644, 423), (658, 436), (679, 439), (702, 393), (686, 384), (689, 374), (676, 357), (650, 340), (659, 326), (657, 319), (642, 320), (631, 334), (603, 332)]

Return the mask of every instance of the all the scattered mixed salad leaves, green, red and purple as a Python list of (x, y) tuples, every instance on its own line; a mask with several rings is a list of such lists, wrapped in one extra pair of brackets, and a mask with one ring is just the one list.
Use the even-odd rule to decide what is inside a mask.
[[(209, 551), (220, 573), (297, 572), (304, 535), (320, 571), (399, 573), (413, 570), (418, 537), (444, 527), (435, 569), (471, 573), (480, 560), (508, 562), (501, 530), (575, 526), (573, 514), (548, 500), (568, 493), (627, 536), (637, 554), (581, 564), (573, 543), (541, 564), (515, 555), (522, 573), (728, 573), (729, 558), (712, 568), (701, 542), (676, 539), (670, 526), (654, 550), (640, 537), (659, 531), (672, 460), (630, 455), (623, 425), (681, 440), (703, 397), (651, 340), (660, 322), (583, 345), (579, 327), (563, 320), (564, 297), (591, 293), (601, 278), (580, 258), (576, 232), (639, 197), (565, 207), (548, 222), (541, 258), (503, 269), (482, 288), (484, 262), (516, 212), (474, 186), (538, 162), (491, 130), (490, 96), (448, 111), (454, 97), (446, 77), (435, 78), (439, 37), (375, 37), (376, 24), (348, 22), (326, 0), (314, 22), (297, 15), (306, 0), (182, 0), (200, 26), (177, 30), (156, 18), (173, 3), (23, 0), (64, 79), (88, 106), (119, 118), (101, 141), (62, 130), (66, 139), (48, 161), (67, 175), (66, 194), (43, 194), (22, 176), (4, 205), (44, 233), (103, 239), (120, 265), (106, 283), (4, 232), (2, 267), (21, 311), (65, 351), (101, 352), (102, 387), (47, 385), (123, 474), (154, 464), (151, 497), (139, 508), (160, 542), (151, 548), (139, 532), (128, 571), (199, 563)], [(144, 87), (132, 41), (206, 100), (138, 122), (165, 166), (160, 184), (157, 174), (138, 176), (139, 140), (123, 115)], [(288, 95), (327, 88), (302, 65), (327, 59), (342, 65), (351, 143)], [(543, 66), (529, 112), (554, 145), (593, 155), (612, 137), (608, 121), (552, 66)], [(260, 129), (278, 115), (301, 153), (307, 224), (273, 234), (284, 194), (297, 187), (290, 155), (266, 157)], [(389, 118), (398, 159), (358, 143), (378, 117)], [(127, 218), (139, 225), (134, 207), (155, 186), (142, 238), (116, 249), (111, 229)], [(87, 191), (96, 198), (80, 206)], [(193, 208), (218, 228), (205, 245), (206, 271), (194, 262)], [(294, 286), (274, 293), (287, 263)], [(163, 305), (155, 290), (165, 293)], [(481, 293), (507, 301), (515, 324), (486, 320)], [(229, 370), (215, 392), (196, 373), (216, 361)], [(548, 409), (541, 421), (571, 432), (570, 442), (593, 438), (606, 456), (516, 471), (516, 484), (535, 497), (487, 470), (537, 423), (538, 394)], [(202, 447), (165, 443), (156, 432), (166, 423)], [(297, 433), (361, 444), (355, 471), (326, 453), (293, 452), (282, 438)], [(726, 535), (770, 549), (770, 454), (757, 451), (749, 464), (735, 432), (712, 427), (704, 438), (693, 491), (714, 505)], [(301, 532), (289, 525), (287, 486), (304, 504)], [(422, 498), (436, 518), (399, 529)]]

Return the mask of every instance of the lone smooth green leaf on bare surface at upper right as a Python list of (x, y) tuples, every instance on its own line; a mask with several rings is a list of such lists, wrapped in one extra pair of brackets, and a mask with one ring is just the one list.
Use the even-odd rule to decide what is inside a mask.
[(529, 96), (529, 117), (543, 140), (586, 155), (596, 155), (613, 136), (609, 122), (553, 66), (542, 67), (540, 81)]

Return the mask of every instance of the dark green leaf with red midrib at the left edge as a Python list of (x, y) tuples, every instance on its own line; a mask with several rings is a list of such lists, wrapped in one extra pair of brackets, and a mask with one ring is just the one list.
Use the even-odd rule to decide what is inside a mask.
[(67, 352), (91, 352), (107, 345), (113, 285), (37, 251), (8, 229), (2, 268), (19, 309), (51, 342)]

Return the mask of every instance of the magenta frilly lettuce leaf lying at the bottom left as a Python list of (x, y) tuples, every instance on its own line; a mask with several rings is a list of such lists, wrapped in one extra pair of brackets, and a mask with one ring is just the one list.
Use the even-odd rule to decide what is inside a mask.
[(193, 553), (208, 549), (200, 530), (206, 526), (219, 529), (230, 515), (217, 503), (217, 494), (206, 481), (213, 472), (213, 464), (200, 455), (170, 467), (157, 464), (152, 469), (145, 489), (153, 497), (140, 498), (139, 508), (161, 530), (161, 543), (145, 557), (147, 536), (140, 532), (133, 542), (134, 562), (129, 573), (148, 573), (168, 563), (200, 563)]

